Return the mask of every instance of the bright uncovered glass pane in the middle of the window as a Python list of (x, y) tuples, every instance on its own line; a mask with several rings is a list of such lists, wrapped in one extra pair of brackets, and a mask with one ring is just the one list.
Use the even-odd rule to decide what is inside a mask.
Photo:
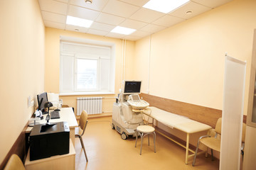
[(77, 89), (97, 89), (97, 60), (77, 60)]

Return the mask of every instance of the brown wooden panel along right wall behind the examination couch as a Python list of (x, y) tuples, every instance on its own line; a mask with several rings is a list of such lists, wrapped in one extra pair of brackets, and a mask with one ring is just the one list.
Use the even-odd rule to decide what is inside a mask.
[(193, 105), (181, 101), (174, 101), (168, 98), (161, 98), (150, 94), (140, 94), (150, 106), (160, 108), (164, 111), (186, 116), (192, 120), (205, 123), (215, 128), (218, 118), (221, 117), (222, 111), (214, 108)]

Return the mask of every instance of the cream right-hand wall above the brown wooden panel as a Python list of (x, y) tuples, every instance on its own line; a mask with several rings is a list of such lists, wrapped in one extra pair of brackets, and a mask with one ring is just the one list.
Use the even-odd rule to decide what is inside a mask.
[[(234, 0), (135, 44), (136, 79), (149, 94), (209, 108), (223, 108), (224, 56), (247, 61), (249, 83), (256, 1)], [(150, 69), (149, 69), (150, 68)], [(147, 77), (147, 74), (150, 76)], [(147, 84), (142, 86), (146, 93)], [(245, 89), (245, 109), (247, 114)]]

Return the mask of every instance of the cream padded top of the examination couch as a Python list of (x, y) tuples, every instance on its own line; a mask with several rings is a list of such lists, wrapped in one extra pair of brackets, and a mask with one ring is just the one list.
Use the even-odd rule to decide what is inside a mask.
[(204, 130), (209, 130), (211, 128), (209, 125), (199, 123), (182, 115), (169, 113), (155, 107), (148, 108), (149, 110), (144, 111), (144, 114), (149, 115), (151, 118), (158, 120), (159, 122), (170, 128), (176, 128), (187, 133), (201, 132)]

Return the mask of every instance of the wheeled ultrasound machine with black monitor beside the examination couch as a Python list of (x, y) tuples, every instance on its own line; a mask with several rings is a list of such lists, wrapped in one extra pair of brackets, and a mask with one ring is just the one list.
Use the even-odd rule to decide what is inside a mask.
[(124, 81), (116, 103), (113, 104), (112, 129), (117, 130), (123, 140), (129, 135), (135, 137), (137, 126), (144, 125), (142, 111), (149, 103), (139, 98), (141, 84), (142, 81)]

